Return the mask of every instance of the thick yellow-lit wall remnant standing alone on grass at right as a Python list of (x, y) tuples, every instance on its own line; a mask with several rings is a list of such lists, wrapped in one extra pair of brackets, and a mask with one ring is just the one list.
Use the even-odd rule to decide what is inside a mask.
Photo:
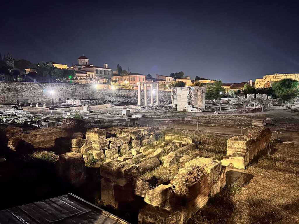
[(254, 128), (246, 135), (234, 136), (227, 140), (226, 156), (221, 160), (222, 165), (232, 164), (235, 168), (245, 169), (248, 163), (264, 150), (272, 139), (269, 128)]

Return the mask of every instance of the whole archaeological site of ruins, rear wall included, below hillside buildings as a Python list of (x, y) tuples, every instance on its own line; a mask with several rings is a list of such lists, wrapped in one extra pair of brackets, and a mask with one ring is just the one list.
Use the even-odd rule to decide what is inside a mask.
[(0, 223), (299, 223), (295, 102), (212, 104), (205, 87), (0, 90)]

